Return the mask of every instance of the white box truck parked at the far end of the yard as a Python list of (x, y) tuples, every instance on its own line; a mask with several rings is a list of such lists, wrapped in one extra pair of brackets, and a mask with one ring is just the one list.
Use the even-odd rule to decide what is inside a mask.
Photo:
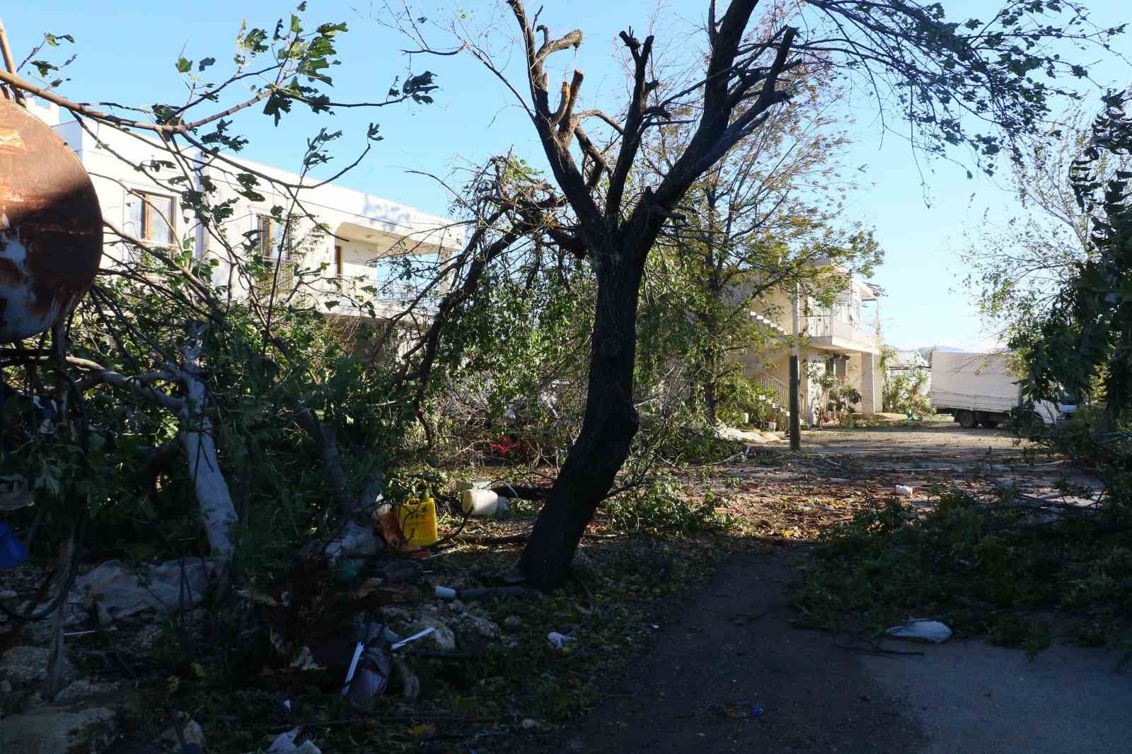
[[(950, 413), (964, 428), (997, 427), (1024, 402), (1007, 353), (932, 351), (932, 388), (928, 397), (937, 413)], [(1034, 409), (1047, 425), (1069, 419), (1069, 401), (1036, 401)]]

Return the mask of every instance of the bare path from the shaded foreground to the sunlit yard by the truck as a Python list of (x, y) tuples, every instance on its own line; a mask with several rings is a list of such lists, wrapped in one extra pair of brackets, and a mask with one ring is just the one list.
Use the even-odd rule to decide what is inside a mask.
[(1028, 661), (1021, 651), (952, 641), (887, 642), (880, 649), (923, 650), (889, 654), (791, 624), (791, 556), (806, 548), (791, 531), (848, 517), (894, 482), (1048, 489), (1065, 472), (1061, 463), (1026, 463), (1005, 432), (950, 423), (823, 429), (803, 442), (808, 462), (721, 472), (736, 480), (732, 505), (758, 507), (767, 543), (674, 606), (671, 619), (654, 625), (654, 649), (582, 725), (511, 751), (1130, 751), (1132, 676), (1116, 671), (1116, 652), (1055, 645)]

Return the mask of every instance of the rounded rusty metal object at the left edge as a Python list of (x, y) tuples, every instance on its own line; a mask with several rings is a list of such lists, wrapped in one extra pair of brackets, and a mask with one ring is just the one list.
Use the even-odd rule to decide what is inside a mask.
[(0, 343), (70, 312), (101, 258), (102, 212), (83, 164), (51, 127), (0, 100)]

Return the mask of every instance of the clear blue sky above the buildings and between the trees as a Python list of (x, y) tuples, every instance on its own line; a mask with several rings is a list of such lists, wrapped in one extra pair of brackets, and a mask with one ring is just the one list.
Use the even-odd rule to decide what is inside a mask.
[[(297, 1), (297, 0), (295, 0)], [(396, 0), (393, 0), (396, 2)], [(986, 15), (989, 0), (943, 0), (949, 15), (957, 19)], [(1099, 24), (1121, 23), (1126, 0), (1087, 0), (1092, 18)], [(185, 85), (174, 69), (179, 55), (191, 60), (214, 57), (211, 69), (225, 70), (231, 60), (233, 38), (240, 24), (272, 28), (275, 19), (290, 14), (295, 2), (241, 0), (222, 2), (197, 0), (194, 3), (153, 3), (135, 0), (106, 0), (92, 11), (89, 2), (55, 0), (45, 3), (8, 3), (2, 11), (17, 60), (31, 50), (43, 32), (72, 34), (76, 61), (66, 69), (70, 78), (59, 92), (77, 101), (113, 101), (130, 104), (178, 102)], [(455, 58), (415, 57), (401, 50), (410, 46), (401, 35), (372, 20), (384, 2), (367, 6), (362, 0), (312, 0), (306, 14), (310, 25), (344, 20), (350, 32), (338, 48), (343, 65), (333, 70), (337, 97), (374, 100), (384, 96), (394, 76), (404, 76), (411, 63), (414, 72), (428, 68), (438, 75), (440, 89), (432, 105), (397, 105), (378, 111), (346, 111), (334, 118), (335, 129), (345, 135), (336, 151), (338, 164), (352, 158), (363, 144), (366, 125), (380, 125), (385, 139), (343, 182), (370, 194), (444, 214), (448, 203), (445, 191), (429, 178), (410, 171), (448, 175), (462, 164), (475, 163), (514, 147), (532, 163), (541, 163), (541, 149), (523, 112), (508, 100), (501, 85), (483, 68), (464, 55)], [(530, 5), (539, 3), (531, 0)], [(560, 53), (563, 66), (580, 67), (586, 72), (583, 97), (586, 106), (616, 110), (624, 101), (624, 77), (615, 53), (620, 43), (617, 33), (626, 26), (644, 32), (650, 18), (662, 19), (657, 34), (660, 54), (677, 59), (694, 49), (683, 37), (687, 25), (703, 18), (704, 0), (667, 0), (655, 10), (655, 0), (572, 0), (547, 1), (542, 20), (556, 33), (575, 26), (586, 35), (576, 53)], [(501, 18), (509, 34), (513, 24), (499, 17), (492, 0), (466, 0), (458, 7), (469, 16), (468, 24), (486, 26)], [(417, 15), (443, 18), (452, 7), (437, 0), (414, 3)], [(439, 35), (438, 40), (443, 40)], [(1125, 37), (1126, 40), (1127, 37)], [(506, 49), (498, 43), (500, 51)], [(182, 52), (183, 51), (183, 52)], [(53, 53), (57, 58), (60, 51)], [(70, 54), (68, 51), (67, 54)], [(40, 55), (42, 57), (42, 54)], [(1098, 59), (1099, 54), (1087, 59)], [(1101, 83), (1127, 85), (1132, 72), (1114, 61), (1090, 69)], [(1123, 79), (1123, 80), (1121, 80)], [(946, 344), (985, 348), (992, 339), (984, 332), (977, 312), (962, 290), (963, 269), (959, 260), (964, 228), (981, 221), (989, 208), (992, 217), (1004, 217), (1014, 207), (1007, 192), (994, 182), (968, 180), (964, 171), (951, 163), (916, 162), (907, 143), (889, 135), (882, 139), (874, 113), (867, 108), (855, 113), (850, 136), (854, 147), (846, 160), (864, 166), (858, 180), (861, 190), (847, 197), (851, 216), (876, 231), (885, 250), (884, 265), (873, 280), (886, 295), (881, 301), (885, 340), (900, 346)], [(251, 138), (247, 156), (294, 169), (301, 156), (305, 137), (317, 127), (309, 115), (288, 117), (274, 128), (257, 113), (237, 120), (237, 129)], [(320, 125), (326, 125), (320, 123)], [(927, 180), (921, 187), (921, 172)], [(925, 203), (925, 196), (929, 203)]]

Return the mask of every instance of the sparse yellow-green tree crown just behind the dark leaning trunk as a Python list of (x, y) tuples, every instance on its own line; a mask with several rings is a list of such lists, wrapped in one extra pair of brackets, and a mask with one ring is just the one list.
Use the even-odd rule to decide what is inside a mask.
[[(663, 309), (663, 329), (679, 341), (671, 348), (686, 360), (695, 404), (712, 425), (720, 410), (735, 421), (764, 403), (745, 374), (746, 354), (784, 337), (753, 311), (789, 319), (774, 294), (797, 286), (803, 301), (827, 301), (849, 271), (867, 275), (881, 258), (872, 233), (844, 216), (843, 196), (855, 185), (840, 163), (844, 132), (829, 114), (842, 93), (817, 74), (797, 86), (789, 105), (773, 109), (693, 183), (646, 266), (642, 322), (658, 316), (650, 308)], [(658, 128), (638, 180), (669, 169), (691, 136), (680, 122)], [(653, 354), (642, 335), (641, 359)]]

